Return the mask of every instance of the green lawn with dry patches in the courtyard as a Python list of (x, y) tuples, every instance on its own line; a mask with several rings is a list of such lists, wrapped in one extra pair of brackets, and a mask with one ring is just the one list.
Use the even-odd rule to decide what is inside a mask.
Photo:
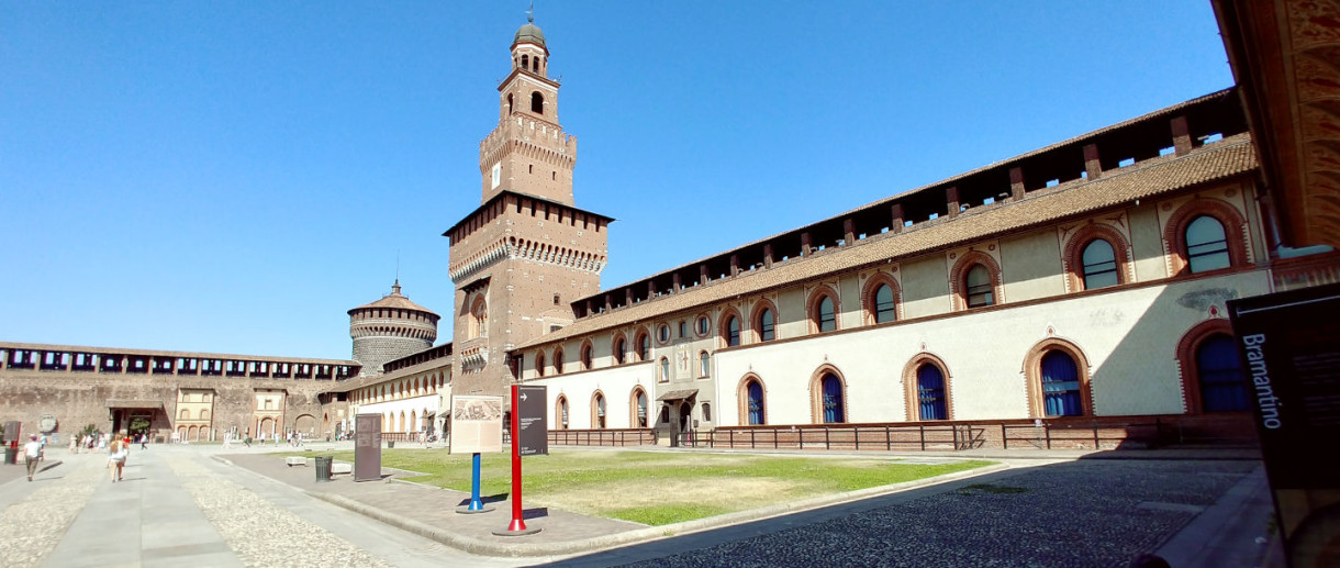
[[(324, 453), (323, 453), (324, 454)], [(311, 457), (311, 453), (304, 453)], [(354, 461), (352, 451), (336, 459)], [(647, 525), (704, 518), (821, 494), (842, 493), (942, 476), (990, 465), (945, 465), (896, 459), (838, 459), (666, 451), (551, 449), (523, 459), (527, 506), (622, 518)], [(470, 455), (445, 450), (382, 450), (382, 466), (422, 473), (426, 485), (470, 490)], [(511, 490), (511, 454), (484, 454), (480, 494)]]

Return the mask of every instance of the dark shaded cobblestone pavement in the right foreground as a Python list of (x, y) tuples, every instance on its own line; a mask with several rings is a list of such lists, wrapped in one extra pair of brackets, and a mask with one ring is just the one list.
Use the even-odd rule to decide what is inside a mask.
[(1126, 567), (1257, 464), (1101, 461), (1012, 470), (827, 518), (689, 535), (563, 565)]

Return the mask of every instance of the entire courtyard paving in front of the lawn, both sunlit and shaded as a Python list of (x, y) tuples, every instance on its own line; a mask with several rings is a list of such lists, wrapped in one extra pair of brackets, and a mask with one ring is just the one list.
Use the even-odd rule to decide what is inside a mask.
[(505, 501), (457, 514), (468, 494), (402, 472), (318, 484), (264, 451), (155, 446), (131, 454), (121, 484), (100, 455), (58, 455), (32, 484), (0, 466), (0, 565), (1119, 567), (1151, 551), (1179, 568), (1280, 565), (1277, 547), (1258, 544), (1270, 500), (1253, 451), (914, 453), (1004, 465), (670, 526), (533, 508), (525, 522), (541, 530), (519, 537), (492, 535), (507, 528)]

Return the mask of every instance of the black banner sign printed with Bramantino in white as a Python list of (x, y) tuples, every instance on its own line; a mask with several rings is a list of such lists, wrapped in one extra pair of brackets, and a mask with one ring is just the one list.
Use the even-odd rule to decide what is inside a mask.
[(1289, 564), (1328, 565), (1340, 559), (1340, 468), (1325, 458), (1340, 441), (1340, 284), (1227, 307)]

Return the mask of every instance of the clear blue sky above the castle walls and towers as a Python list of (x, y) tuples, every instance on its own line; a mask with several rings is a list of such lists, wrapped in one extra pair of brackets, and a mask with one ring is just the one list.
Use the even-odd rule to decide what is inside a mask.
[[(606, 288), (1233, 83), (1206, 0), (539, 1)], [(0, 0), (0, 340), (350, 356), (441, 233), (525, 1)]]

